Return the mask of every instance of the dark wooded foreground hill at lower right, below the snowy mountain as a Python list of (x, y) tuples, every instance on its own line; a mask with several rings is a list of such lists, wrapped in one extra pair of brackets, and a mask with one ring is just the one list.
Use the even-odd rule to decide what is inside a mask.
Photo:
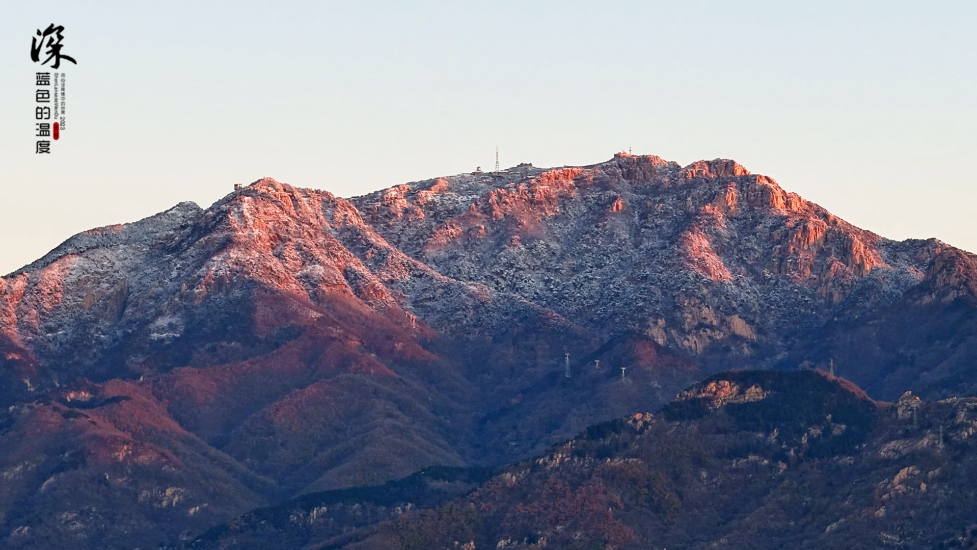
[(722, 373), (477, 485), (434, 468), (307, 494), (190, 547), (972, 548), (975, 408), (874, 402), (821, 371)]

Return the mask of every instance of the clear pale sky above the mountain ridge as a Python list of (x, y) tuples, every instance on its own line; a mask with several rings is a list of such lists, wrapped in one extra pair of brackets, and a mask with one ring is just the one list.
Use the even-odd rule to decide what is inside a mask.
[[(977, 251), (974, 2), (43, 2), (0, 21), (0, 274), (263, 176), (343, 196), (616, 150), (727, 157)], [(30, 36), (68, 119), (33, 153)]]

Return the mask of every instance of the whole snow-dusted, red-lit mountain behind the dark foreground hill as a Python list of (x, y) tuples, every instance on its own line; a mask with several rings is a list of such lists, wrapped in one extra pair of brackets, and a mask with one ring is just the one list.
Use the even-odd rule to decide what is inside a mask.
[(0, 536), (177, 544), (310, 491), (509, 464), (730, 368), (966, 395), (975, 313), (973, 254), (732, 160), (350, 199), (262, 179), (0, 278)]

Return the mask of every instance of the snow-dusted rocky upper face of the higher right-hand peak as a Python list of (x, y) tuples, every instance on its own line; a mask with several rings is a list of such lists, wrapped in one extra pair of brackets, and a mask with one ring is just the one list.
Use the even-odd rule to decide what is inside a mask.
[(823, 322), (872, 270), (895, 293), (919, 275), (888, 264), (881, 237), (728, 160), (681, 168), (617, 155), (586, 168), (441, 178), (354, 203), (444, 275), (599, 333), (640, 330), (693, 356), (721, 349), (723, 361), (785, 348), (786, 335)]

